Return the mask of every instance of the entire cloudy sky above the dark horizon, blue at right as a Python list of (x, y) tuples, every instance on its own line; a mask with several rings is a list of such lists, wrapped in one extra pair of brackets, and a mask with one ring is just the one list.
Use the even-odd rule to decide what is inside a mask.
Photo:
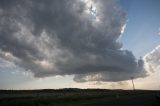
[(159, 5), (1, 0), (0, 89), (159, 90)]

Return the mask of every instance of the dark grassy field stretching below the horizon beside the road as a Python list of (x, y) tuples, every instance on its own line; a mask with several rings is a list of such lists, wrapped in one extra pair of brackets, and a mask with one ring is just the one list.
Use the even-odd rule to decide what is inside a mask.
[[(98, 102), (127, 101), (139, 95), (156, 95), (158, 92), (106, 89), (0, 90), (0, 106), (85, 106)], [(145, 106), (160, 106), (160, 101), (151, 101)]]

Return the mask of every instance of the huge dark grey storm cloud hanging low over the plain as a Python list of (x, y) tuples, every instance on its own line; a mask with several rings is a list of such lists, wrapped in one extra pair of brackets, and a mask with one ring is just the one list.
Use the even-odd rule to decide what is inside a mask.
[(0, 58), (35, 77), (74, 81), (145, 77), (118, 41), (126, 15), (114, 0), (1, 0)]

